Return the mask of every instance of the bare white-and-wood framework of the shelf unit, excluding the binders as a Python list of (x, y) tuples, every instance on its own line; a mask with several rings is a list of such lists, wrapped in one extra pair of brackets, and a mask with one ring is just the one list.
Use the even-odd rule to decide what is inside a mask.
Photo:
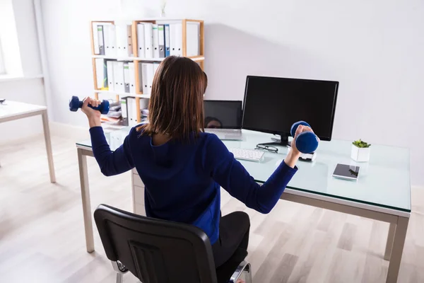
[[(188, 57), (192, 59), (194, 62), (197, 62), (201, 69), (204, 69), (204, 21), (201, 20), (192, 20), (192, 19), (168, 19), (168, 18), (146, 18), (140, 21), (132, 21), (131, 22), (131, 44), (134, 50), (134, 56), (132, 57), (110, 57), (106, 55), (98, 55), (95, 54), (94, 50), (94, 38), (93, 38), (93, 23), (108, 23), (108, 24), (114, 24), (114, 21), (91, 21), (90, 22), (90, 37), (91, 37), (91, 59), (93, 63), (93, 82), (94, 82), (94, 96), (96, 99), (99, 99), (99, 95), (105, 94), (105, 95), (114, 95), (116, 100), (119, 100), (120, 97), (130, 96), (136, 98), (136, 113), (137, 113), (137, 122), (141, 122), (141, 111), (140, 111), (140, 99), (149, 99), (151, 96), (150, 94), (145, 94), (140, 91), (140, 83), (139, 78), (139, 62), (162, 62), (165, 58), (144, 58), (144, 57), (138, 57), (137, 56), (137, 50), (138, 50), (138, 40), (137, 40), (137, 24), (138, 23), (157, 23), (157, 24), (164, 24), (164, 23), (176, 23), (181, 22), (182, 23), (182, 55), (185, 56), (187, 54), (187, 22), (196, 22), (199, 23), (199, 55), (198, 56), (192, 56)], [(136, 77), (136, 93), (122, 93), (117, 91), (107, 91), (98, 89), (97, 86), (97, 76), (96, 76), (96, 66), (95, 66), (95, 59), (110, 59), (110, 60), (116, 60), (116, 61), (131, 61), (134, 62), (134, 71), (135, 71), (135, 77)], [(107, 126), (111, 127), (111, 126)]]

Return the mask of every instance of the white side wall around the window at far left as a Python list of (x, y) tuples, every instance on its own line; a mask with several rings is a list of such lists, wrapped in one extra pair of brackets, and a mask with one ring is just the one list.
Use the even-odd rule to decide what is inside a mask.
[[(35, 14), (32, 0), (13, 0), (16, 34), (18, 35), (18, 64), (21, 64), (22, 79), (17, 81), (1, 81), (0, 97), (6, 100), (16, 100), (39, 105), (45, 105), (45, 94), (42, 79), (34, 79), (42, 73), (40, 52), (37, 42), (37, 29), (35, 28)], [(8, 23), (8, 28), (13, 29), (13, 24)], [(8, 55), (5, 51), (5, 56)], [(42, 132), (40, 117), (29, 117), (0, 124), (0, 143), (11, 139), (29, 137)]]

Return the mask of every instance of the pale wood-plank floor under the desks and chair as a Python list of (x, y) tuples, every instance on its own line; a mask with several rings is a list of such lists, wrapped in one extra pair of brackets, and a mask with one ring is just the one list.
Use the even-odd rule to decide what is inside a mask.
[[(76, 148), (52, 137), (57, 184), (49, 183), (42, 137), (0, 146), (0, 282), (114, 282), (95, 230), (85, 250)], [(131, 210), (128, 173), (104, 177), (88, 158), (92, 209)], [(413, 213), (399, 282), (424, 282), (424, 190), (413, 190)], [(223, 193), (223, 214), (251, 218), (248, 260), (254, 282), (384, 282), (389, 225), (280, 201), (263, 215)], [(137, 282), (126, 275), (124, 282)]]

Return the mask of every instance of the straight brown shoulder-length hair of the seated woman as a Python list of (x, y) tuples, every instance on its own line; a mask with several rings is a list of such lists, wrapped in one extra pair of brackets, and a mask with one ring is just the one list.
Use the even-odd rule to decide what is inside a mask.
[(208, 79), (192, 59), (166, 57), (153, 78), (148, 105), (148, 124), (142, 134), (168, 134), (171, 139), (189, 139), (204, 130), (203, 96)]

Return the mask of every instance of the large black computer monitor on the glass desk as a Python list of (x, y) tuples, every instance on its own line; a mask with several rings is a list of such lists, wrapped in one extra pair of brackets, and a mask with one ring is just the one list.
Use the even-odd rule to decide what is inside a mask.
[(294, 122), (309, 123), (324, 141), (331, 140), (338, 81), (247, 76), (243, 129), (281, 135), (269, 144), (288, 144)]

